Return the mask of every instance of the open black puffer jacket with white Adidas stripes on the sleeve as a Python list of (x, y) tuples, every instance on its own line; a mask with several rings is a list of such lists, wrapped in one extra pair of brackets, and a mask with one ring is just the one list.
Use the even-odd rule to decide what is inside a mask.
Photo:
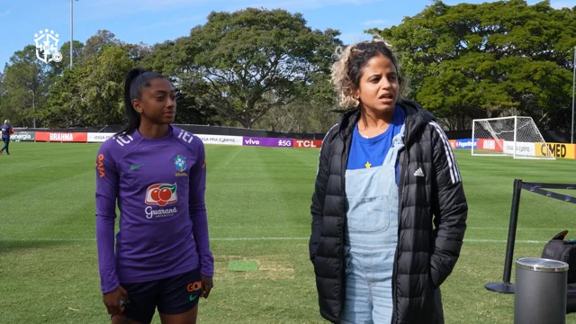
[[(463, 244), (468, 206), (454, 153), (435, 118), (417, 103), (406, 112), (399, 154), (399, 241), (394, 261), (392, 324), (444, 323), (440, 284), (452, 272)], [(312, 195), (310, 257), (320, 314), (339, 323), (345, 300), (345, 172), (359, 110), (329, 130), (320, 149)], [(421, 169), (424, 176), (415, 175)]]

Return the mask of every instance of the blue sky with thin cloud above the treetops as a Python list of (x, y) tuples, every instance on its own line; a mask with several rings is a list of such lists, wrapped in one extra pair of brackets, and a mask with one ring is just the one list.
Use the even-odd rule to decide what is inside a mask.
[[(528, 4), (536, 2), (528, 0)], [(312, 29), (337, 29), (340, 39), (350, 43), (367, 40), (366, 29), (398, 25), (428, 4), (430, 0), (74, 0), (73, 36), (85, 43), (105, 29), (125, 42), (154, 45), (189, 35), (194, 26), (206, 23), (212, 11), (257, 7), (301, 13)], [(551, 0), (551, 4), (572, 8), (576, 0)], [(58, 48), (70, 40), (70, 0), (0, 0), (0, 71), (15, 51), (35, 44), (34, 34), (40, 30), (58, 34)]]

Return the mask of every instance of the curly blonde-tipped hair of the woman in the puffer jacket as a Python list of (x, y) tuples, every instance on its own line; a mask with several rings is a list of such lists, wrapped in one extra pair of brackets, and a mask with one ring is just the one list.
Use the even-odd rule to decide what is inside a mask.
[(392, 45), (382, 37), (375, 35), (372, 40), (365, 40), (347, 46), (339, 46), (335, 51), (336, 62), (332, 65), (331, 82), (338, 94), (338, 103), (342, 107), (352, 108), (358, 106), (356, 90), (360, 86), (360, 77), (366, 63), (375, 56), (383, 55), (392, 60), (398, 72), (400, 97), (407, 90), (406, 77), (401, 69), (400, 62), (392, 51)]

